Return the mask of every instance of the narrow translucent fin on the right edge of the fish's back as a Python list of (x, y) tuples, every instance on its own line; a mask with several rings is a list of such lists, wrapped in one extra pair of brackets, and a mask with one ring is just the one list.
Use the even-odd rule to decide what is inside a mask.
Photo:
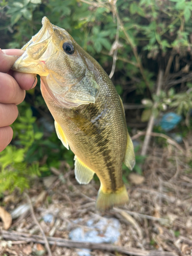
[(127, 134), (127, 145), (126, 145), (126, 152), (124, 157), (124, 164), (131, 170), (135, 165), (134, 147), (129, 134)]

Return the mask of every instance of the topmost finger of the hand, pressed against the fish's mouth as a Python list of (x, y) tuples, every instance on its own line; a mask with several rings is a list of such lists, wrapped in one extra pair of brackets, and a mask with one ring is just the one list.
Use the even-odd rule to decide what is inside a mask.
[(7, 73), (23, 53), (24, 51), (20, 49), (8, 49), (4, 51), (0, 49), (0, 72)]

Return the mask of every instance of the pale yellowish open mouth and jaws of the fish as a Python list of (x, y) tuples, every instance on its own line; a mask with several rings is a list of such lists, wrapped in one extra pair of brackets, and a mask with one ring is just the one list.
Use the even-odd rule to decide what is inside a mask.
[(15, 61), (12, 69), (47, 76), (49, 73), (45, 67), (46, 61), (57, 52), (53, 44), (50, 44), (53, 33), (53, 25), (47, 17), (43, 17), (41, 29), (22, 48), (25, 52)]

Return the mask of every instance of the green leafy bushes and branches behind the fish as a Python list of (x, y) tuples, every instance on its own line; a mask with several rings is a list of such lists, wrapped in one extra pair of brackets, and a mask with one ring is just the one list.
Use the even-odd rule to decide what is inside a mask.
[[(166, 132), (155, 121), (164, 112), (182, 116), (175, 132), (183, 138), (191, 130), (191, 11), (187, 0), (3, 0), (0, 47), (22, 48), (47, 16), (112, 76), (131, 135), (145, 131), (151, 120), (150, 129), (161, 134), (153, 143), (166, 147)], [(73, 167), (73, 153), (56, 136), (39, 80), (18, 109), (14, 138), (0, 153), (0, 193), (15, 187), (23, 191), (32, 177), (49, 176), (50, 168), (59, 168), (63, 160)], [(141, 174), (147, 152), (141, 143), (135, 148), (134, 170)], [(191, 166), (190, 158), (187, 164)], [(126, 182), (130, 171), (123, 168)]]

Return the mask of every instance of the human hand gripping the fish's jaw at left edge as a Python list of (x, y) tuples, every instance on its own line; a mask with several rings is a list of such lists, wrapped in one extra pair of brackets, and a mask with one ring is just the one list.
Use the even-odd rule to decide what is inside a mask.
[(19, 49), (0, 49), (0, 152), (11, 142), (13, 130), (9, 126), (18, 115), (17, 106), (25, 98), (25, 90), (36, 86), (35, 74), (10, 70), (16, 59), (24, 53)]

